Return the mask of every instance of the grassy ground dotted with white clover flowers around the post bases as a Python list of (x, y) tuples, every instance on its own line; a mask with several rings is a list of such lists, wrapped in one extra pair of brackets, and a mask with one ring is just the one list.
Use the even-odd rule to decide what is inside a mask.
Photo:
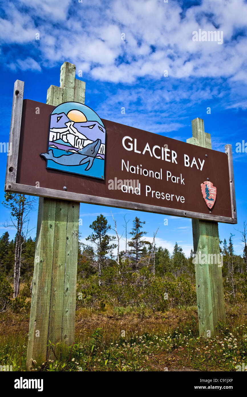
[[(236, 371), (247, 355), (247, 304), (227, 306), (226, 315), (218, 334), (203, 339), (196, 307), (165, 313), (131, 307), (80, 309), (75, 343), (65, 347), (50, 341), (48, 360), (37, 359), (33, 370)], [(26, 370), (28, 329), (28, 311), (0, 314), (0, 365)]]

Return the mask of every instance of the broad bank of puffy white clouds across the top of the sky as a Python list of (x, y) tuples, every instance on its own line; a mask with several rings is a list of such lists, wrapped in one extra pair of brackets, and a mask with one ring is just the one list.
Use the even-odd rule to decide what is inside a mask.
[[(34, 46), (35, 32), (40, 31), (38, 50), (44, 64), (69, 56), (93, 78), (114, 83), (133, 83), (138, 77), (161, 80), (165, 69), (176, 78), (224, 76), (247, 83), (242, 71), (247, 39), (236, 36), (246, 31), (244, 0), (203, 0), (186, 10), (183, 19), (176, 1), (112, 0), (105, 6), (99, 1), (37, 0), (30, 4), (21, 0), (7, 2), (3, 8), (2, 39)], [(223, 31), (224, 43), (193, 42), (192, 32), (199, 28)]]

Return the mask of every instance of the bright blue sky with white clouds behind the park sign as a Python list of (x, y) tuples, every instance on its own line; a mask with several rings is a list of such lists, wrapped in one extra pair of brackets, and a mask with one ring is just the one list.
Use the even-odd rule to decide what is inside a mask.
[[(247, 2), (168, 0), (28, 0), (2, 2), (0, 8), (2, 129), (8, 142), (13, 84), (25, 81), (24, 98), (46, 102), (50, 85), (59, 86), (63, 62), (77, 67), (86, 81), (85, 104), (100, 118), (186, 141), (191, 120), (204, 119), (212, 148), (233, 148), (237, 225), (219, 224), (221, 239), (235, 234), (236, 253), (247, 220), (247, 153), (236, 143), (247, 143)], [(193, 31), (222, 31), (223, 43), (193, 41)], [(38, 40), (36, 40), (39, 38)], [(168, 76), (164, 76), (167, 70)], [(79, 77), (82, 71), (82, 77)], [(125, 114), (121, 108), (125, 108)], [(211, 114), (207, 114), (207, 108)], [(0, 153), (0, 182), (4, 197), (6, 153)], [(217, 170), (215, 170), (217, 172)], [(0, 233), (9, 219), (0, 206)], [(177, 241), (186, 255), (193, 247), (191, 220), (117, 208), (80, 204), (82, 241), (89, 225), (103, 213), (120, 235), (126, 214), (129, 229), (135, 216), (146, 221), (147, 238), (172, 252)], [(31, 217), (32, 237), (36, 217)], [(168, 225), (164, 225), (164, 218)], [(11, 238), (15, 231), (9, 229)], [(113, 233), (113, 232), (112, 232)], [(124, 246), (124, 241), (122, 241)]]

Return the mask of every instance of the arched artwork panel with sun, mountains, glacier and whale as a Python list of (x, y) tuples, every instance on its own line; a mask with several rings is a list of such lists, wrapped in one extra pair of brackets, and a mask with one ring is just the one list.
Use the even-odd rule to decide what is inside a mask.
[(78, 102), (57, 106), (50, 116), (46, 168), (104, 179), (105, 127)]

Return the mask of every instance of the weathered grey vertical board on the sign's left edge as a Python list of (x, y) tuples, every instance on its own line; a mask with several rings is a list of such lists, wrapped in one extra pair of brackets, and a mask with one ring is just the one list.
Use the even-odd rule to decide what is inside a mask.
[(10, 122), (9, 152), (5, 182), (15, 182), (21, 132), (21, 114), (23, 104), (24, 81), (16, 80), (14, 84), (12, 113)]

